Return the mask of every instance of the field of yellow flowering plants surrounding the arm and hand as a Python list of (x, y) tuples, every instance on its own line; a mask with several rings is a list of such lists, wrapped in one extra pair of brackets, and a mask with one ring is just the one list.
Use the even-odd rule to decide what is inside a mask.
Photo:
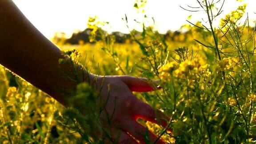
[[(131, 31), (129, 41), (119, 44), (99, 28), (104, 23), (91, 18), (88, 26), (93, 29), (93, 44), (52, 41), (64, 51), (80, 52), (78, 61), (94, 74), (145, 77), (152, 85), (158, 80), (161, 89), (135, 95), (171, 118), (168, 127), (172, 132), (140, 120), (166, 143), (255, 143), (255, 27), (248, 26), (248, 19), (241, 20), (246, 8), (242, 4), (215, 28), (212, 22), (221, 8), (216, 11), (214, 4), (205, 2), (200, 4), (208, 15), (207, 25), (185, 25), (188, 32), (172, 40), (153, 26), (141, 24), (141, 33)], [(143, 4), (135, 7), (143, 8)], [(96, 40), (96, 35), (100, 39)], [(79, 54), (71, 55), (77, 58)], [(77, 95), (81, 94), (85, 107), (95, 105), (88, 85), (79, 85)], [(87, 132), (96, 121), (97, 116), (82, 117), (79, 109), (65, 109), (0, 68), (0, 143), (100, 143), (101, 139)]]

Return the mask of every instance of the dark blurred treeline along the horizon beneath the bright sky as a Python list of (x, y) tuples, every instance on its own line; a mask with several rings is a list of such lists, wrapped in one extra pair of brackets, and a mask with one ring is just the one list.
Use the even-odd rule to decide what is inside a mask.
[[(146, 28), (147, 29), (147, 28)], [(90, 41), (90, 36), (91, 36), (91, 32), (93, 29), (91, 28), (86, 28), (84, 31), (81, 32), (76, 32), (73, 33), (71, 38), (69, 39), (64, 39), (64, 44), (81, 44), (82, 43), (95, 43), (94, 41), (99, 41), (102, 39), (101, 34), (102, 33), (107, 33), (106, 31), (104, 31), (103, 29), (99, 28), (96, 32), (95, 32), (95, 37), (94, 37), (94, 41)], [(252, 33), (255, 30), (254, 27), (249, 27), (249, 31), (250, 33)], [(195, 33), (198, 32), (198, 33)], [(217, 31), (220, 32), (221, 31)], [(135, 34), (136, 36), (138, 35), (142, 35), (142, 32), (138, 32), (136, 30), (132, 31), (133, 34)], [(160, 34), (158, 33), (161, 37), (163, 37), (166, 41), (175, 41), (175, 42), (185, 42), (185, 41), (191, 41), (194, 39), (197, 39), (197, 36), (200, 35), (199, 37), (204, 37), (206, 38), (207, 36), (211, 36), (211, 33), (208, 33), (205, 30), (199, 29), (199, 28), (189, 28), (186, 32), (181, 32), (181, 30), (178, 31), (167, 31), (165, 34)], [(131, 43), (132, 42), (132, 38), (131, 38), (131, 34), (125, 34), (122, 32), (112, 32), (110, 34), (110, 36), (115, 37), (115, 42), (116, 43)], [(63, 40), (60, 37), (56, 37), (57, 41)]]

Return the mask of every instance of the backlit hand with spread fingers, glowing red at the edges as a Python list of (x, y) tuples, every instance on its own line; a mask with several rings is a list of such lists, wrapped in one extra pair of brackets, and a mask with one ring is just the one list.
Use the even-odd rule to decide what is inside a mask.
[[(101, 90), (100, 103), (106, 104), (106, 110), (100, 114), (100, 121), (104, 128), (111, 132), (113, 140), (118, 139), (118, 143), (136, 144), (138, 143), (136, 140), (144, 143), (147, 128), (137, 122), (138, 118), (163, 127), (167, 126), (169, 120), (167, 116), (132, 94), (132, 91), (148, 92), (153, 90), (146, 79), (132, 76), (99, 76), (95, 86), (98, 91)], [(111, 116), (111, 122), (108, 123), (108, 117)], [(148, 135), (151, 142), (157, 139), (152, 132), (148, 132)], [(159, 139), (156, 143), (164, 144), (164, 141)]]

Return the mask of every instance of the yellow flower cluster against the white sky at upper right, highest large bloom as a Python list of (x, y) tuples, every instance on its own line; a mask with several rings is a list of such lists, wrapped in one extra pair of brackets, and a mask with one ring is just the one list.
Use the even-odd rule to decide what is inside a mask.
[[(236, 10), (228, 13), (224, 18), (220, 20), (220, 27), (226, 31), (229, 27), (229, 24), (235, 24), (237, 20), (240, 20), (244, 15), (246, 9), (246, 4), (239, 6)], [(226, 27), (227, 26), (227, 27)]]

